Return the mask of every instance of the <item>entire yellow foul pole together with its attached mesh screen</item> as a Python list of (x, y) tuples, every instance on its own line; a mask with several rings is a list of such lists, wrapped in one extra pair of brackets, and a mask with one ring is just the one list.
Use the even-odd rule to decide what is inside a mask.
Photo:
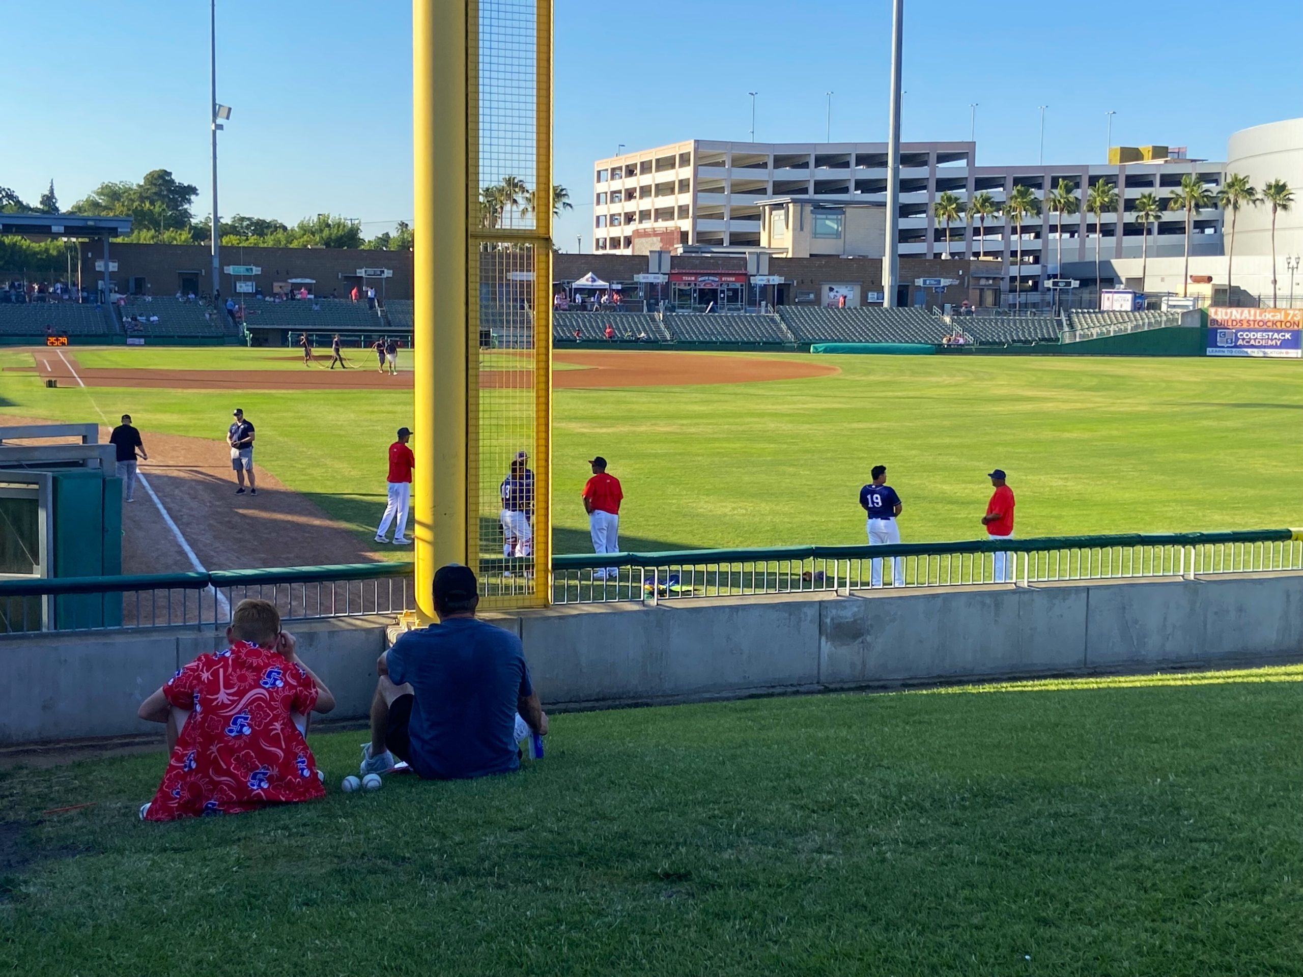
[(413, 0), (416, 589), (547, 603), (551, 0)]

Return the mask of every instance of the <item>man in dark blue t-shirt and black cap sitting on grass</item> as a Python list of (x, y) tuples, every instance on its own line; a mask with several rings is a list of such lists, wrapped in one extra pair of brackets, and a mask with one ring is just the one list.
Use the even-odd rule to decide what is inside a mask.
[(434, 574), (439, 624), (404, 633), (377, 662), (362, 776), (395, 758), (438, 780), (506, 774), (520, 766), (523, 740), (547, 735), (520, 638), (477, 620), (478, 603), (469, 567)]

